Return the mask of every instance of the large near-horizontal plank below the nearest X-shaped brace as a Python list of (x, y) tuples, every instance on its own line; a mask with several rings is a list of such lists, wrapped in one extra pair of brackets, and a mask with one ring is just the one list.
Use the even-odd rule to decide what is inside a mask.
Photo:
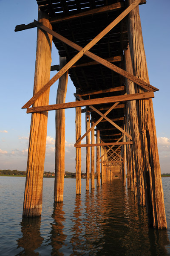
[(33, 107), (33, 108), (28, 108), (27, 113), (37, 113), (42, 111), (51, 111), (51, 110), (64, 109), (64, 108), (85, 107), (90, 105), (99, 105), (99, 104), (105, 104), (105, 103), (124, 102), (129, 100), (149, 99), (149, 98), (154, 98), (153, 92), (134, 93), (134, 94), (111, 96), (111, 97), (104, 97), (104, 98), (86, 99), (86, 100), (81, 100), (77, 102), (68, 102), (68, 103), (54, 104), (54, 105), (41, 106), (41, 107)]

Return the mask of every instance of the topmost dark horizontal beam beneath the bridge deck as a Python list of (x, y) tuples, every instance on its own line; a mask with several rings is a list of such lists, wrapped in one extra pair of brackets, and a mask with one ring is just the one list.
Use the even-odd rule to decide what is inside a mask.
[(59, 23), (61, 21), (68, 21), (68, 20), (77, 19), (79, 17), (85, 17), (88, 15), (96, 15), (96, 14), (99, 14), (102, 12), (111, 12), (113, 10), (120, 9), (122, 7), (124, 7), (124, 3), (122, 3), (122, 2), (113, 3), (108, 6), (102, 6), (102, 7), (95, 8), (95, 9), (92, 9), (92, 10), (89, 10), (86, 12), (79, 12), (79, 13), (76, 13), (76, 14), (70, 15), (70, 16), (51, 18), (50, 23), (54, 24), (54, 23)]

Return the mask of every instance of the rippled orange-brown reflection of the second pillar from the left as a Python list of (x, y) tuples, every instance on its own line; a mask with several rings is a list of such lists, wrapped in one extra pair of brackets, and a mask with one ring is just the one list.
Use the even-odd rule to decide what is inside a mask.
[(53, 247), (51, 255), (63, 256), (64, 253), (59, 252), (65, 243), (66, 235), (63, 234), (63, 222), (65, 222), (65, 212), (62, 210), (63, 203), (57, 203), (54, 205), (54, 212), (51, 215), (54, 218), (54, 223), (52, 223), (51, 230), (51, 246)]

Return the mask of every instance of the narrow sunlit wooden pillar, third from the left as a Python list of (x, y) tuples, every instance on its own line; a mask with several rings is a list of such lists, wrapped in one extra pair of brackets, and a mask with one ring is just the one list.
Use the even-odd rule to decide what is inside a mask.
[[(77, 93), (77, 92), (76, 92)], [(76, 99), (77, 100), (77, 99)], [(81, 107), (76, 108), (76, 141), (81, 137), (82, 128), (82, 110)], [(81, 142), (79, 142), (81, 144)], [(76, 148), (76, 194), (81, 194), (81, 147)]]

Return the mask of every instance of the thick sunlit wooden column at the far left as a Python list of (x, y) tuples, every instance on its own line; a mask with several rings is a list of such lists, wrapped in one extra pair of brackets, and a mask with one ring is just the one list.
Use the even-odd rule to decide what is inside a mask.
[[(52, 29), (49, 17), (39, 10), (38, 20)], [(37, 52), (34, 76), (34, 93), (50, 79), (52, 35), (37, 29)], [(34, 107), (48, 105), (49, 89), (34, 103)], [(45, 145), (47, 137), (48, 111), (33, 113), (28, 146), (27, 176), (23, 205), (23, 216), (40, 216), (42, 212), (42, 180), (44, 172)]]

